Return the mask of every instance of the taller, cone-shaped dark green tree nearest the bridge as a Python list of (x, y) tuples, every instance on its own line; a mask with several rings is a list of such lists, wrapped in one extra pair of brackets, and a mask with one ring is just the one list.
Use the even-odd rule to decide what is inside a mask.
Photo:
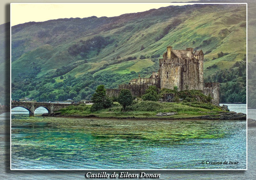
[(106, 89), (104, 85), (99, 85), (92, 95), (91, 112), (106, 109), (112, 106), (113, 102), (106, 96)]

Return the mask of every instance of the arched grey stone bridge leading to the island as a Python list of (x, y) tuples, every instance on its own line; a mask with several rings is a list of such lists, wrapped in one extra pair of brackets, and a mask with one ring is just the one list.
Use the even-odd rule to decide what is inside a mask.
[(80, 103), (70, 104), (70, 103), (37, 103), (37, 102), (12, 102), (12, 108), (23, 107), (28, 110), (29, 116), (35, 116), (35, 110), (39, 107), (44, 107), (48, 114), (52, 114), (62, 108), (68, 107), (70, 105), (79, 105)]

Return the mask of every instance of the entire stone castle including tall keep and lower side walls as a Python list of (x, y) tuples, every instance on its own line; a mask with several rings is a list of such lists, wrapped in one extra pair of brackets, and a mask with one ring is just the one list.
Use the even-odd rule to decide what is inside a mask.
[[(120, 84), (119, 89), (108, 89), (108, 96), (118, 96), (121, 89), (129, 89), (135, 97), (142, 96), (149, 86), (181, 90), (201, 90), (211, 95), (212, 103), (220, 103), (220, 84), (204, 83), (204, 53), (194, 48), (175, 50), (167, 47), (163, 58), (159, 59), (158, 72), (152, 72), (149, 78), (132, 79), (128, 84)], [(170, 95), (171, 96), (171, 95)], [(168, 95), (166, 96), (166, 98)]]

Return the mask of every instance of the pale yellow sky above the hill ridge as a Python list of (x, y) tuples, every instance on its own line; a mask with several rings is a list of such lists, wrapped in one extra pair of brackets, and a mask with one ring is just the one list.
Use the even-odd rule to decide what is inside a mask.
[[(34, 1), (35, 2), (35, 1)], [(91, 16), (114, 17), (121, 14), (143, 12), (169, 5), (185, 5), (180, 3), (12, 3), (11, 26), (30, 21), (43, 22), (59, 18), (86, 18)]]

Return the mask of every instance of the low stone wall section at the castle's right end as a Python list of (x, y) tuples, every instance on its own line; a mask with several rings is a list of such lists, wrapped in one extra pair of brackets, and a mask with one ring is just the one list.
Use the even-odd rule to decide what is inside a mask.
[(211, 95), (212, 104), (218, 105), (220, 104), (220, 83), (204, 83), (204, 95)]

